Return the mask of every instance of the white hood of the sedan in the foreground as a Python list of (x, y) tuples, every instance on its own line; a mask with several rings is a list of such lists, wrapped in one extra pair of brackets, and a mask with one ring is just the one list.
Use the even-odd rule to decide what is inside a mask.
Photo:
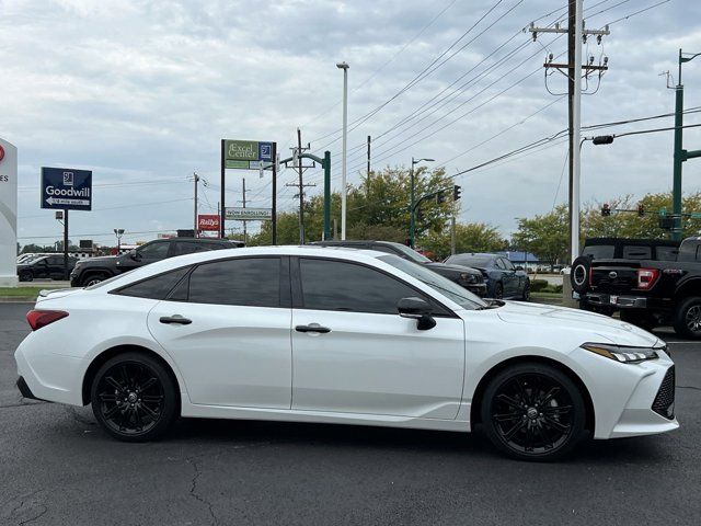
[(630, 323), (616, 318), (597, 315), (585, 310), (570, 309), (551, 305), (505, 301), (497, 310), (497, 316), (506, 323), (520, 323), (533, 327), (553, 327), (571, 329), (581, 333), (589, 333), (593, 340), (599, 336), (618, 345), (656, 346), (660, 340)]

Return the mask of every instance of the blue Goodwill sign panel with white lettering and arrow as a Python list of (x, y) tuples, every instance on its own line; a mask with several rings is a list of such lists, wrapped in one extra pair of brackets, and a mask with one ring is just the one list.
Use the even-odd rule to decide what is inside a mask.
[(72, 168), (42, 168), (42, 208), (90, 210), (92, 172)]

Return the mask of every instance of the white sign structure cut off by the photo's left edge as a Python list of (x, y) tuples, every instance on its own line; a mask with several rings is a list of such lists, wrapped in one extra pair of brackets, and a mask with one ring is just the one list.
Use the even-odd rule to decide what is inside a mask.
[(18, 286), (18, 149), (0, 139), (0, 287)]

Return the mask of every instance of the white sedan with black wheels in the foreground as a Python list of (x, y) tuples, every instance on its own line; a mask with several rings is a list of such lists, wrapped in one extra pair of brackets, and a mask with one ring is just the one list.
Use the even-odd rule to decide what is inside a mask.
[(552, 459), (676, 430), (674, 363), (608, 317), (484, 301), (381, 252), (273, 247), (51, 291), (15, 353), (24, 397), (92, 404), (118, 439), (177, 415), (469, 432)]

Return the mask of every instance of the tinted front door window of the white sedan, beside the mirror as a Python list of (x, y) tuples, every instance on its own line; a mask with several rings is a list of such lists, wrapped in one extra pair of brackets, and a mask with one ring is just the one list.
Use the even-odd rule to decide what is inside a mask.
[(301, 259), (299, 267), (307, 309), (397, 315), (400, 299), (421, 296), (409, 285), (363, 265)]

